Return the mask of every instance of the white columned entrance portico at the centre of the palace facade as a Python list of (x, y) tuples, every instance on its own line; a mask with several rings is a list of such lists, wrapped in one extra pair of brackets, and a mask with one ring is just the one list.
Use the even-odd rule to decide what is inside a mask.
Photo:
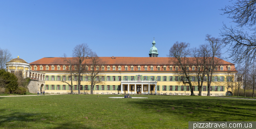
[(156, 94), (156, 92), (157, 81), (121, 81), (121, 94)]

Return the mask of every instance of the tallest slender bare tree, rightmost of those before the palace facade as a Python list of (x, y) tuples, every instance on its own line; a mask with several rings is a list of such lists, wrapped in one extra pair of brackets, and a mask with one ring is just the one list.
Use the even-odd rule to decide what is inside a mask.
[(223, 42), (220, 38), (211, 37), (211, 35), (206, 35), (205, 41), (209, 45), (210, 54), (206, 58), (206, 75), (207, 75), (207, 96), (210, 96), (210, 85), (212, 82), (212, 74), (214, 73), (214, 68), (221, 61), (221, 48), (223, 47)]

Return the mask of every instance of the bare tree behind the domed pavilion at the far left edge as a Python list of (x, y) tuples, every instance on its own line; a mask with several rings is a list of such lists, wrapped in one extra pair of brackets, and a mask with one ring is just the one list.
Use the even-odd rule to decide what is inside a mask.
[(0, 48), (0, 69), (6, 69), (6, 63), (12, 59), (12, 54), (8, 49)]

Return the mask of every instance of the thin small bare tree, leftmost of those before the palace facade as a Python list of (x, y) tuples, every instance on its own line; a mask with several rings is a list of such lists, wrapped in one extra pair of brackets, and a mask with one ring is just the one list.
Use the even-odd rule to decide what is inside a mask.
[[(68, 72), (64, 72), (62, 75), (65, 76), (65, 78), (61, 78), (61, 82), (67, 83), (71, 87), (71, 93), (73, 94), (73, 79), (74, 76), (74, 60), (73, 58), (68, 58), (66, 54), (63, 54), (63, 61), (66, 62), (69, 66), (66, 68)], [(67, 77), (66, 77), (67, 76)]]

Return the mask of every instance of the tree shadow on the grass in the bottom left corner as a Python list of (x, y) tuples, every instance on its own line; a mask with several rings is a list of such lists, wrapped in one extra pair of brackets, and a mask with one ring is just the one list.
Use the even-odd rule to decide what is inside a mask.
[(8, 109), (1, 109), (0, 112), (0, 128), (90, 128), (74, 120), (55, 118), (56, 121), (53, 121), (50, 114), (22, 113)]

